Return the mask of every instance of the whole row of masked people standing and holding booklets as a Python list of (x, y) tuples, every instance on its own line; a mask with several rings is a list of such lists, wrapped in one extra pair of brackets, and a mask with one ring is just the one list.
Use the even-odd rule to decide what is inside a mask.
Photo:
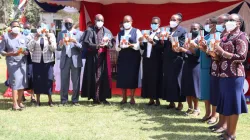
[[(150, 99), (148, 105), (159, 106), (159, 99), (163, 99), (170, 102), (167, 109), (180, 111), (187, 100), (189, 108), (185, 115), (198, 116), (199, 99), (204, 100), (206, 109), (202, 121), (218, 122), (209, 128), (225, 132), (221, 135), (223, 139), (235, 139), (239, 114), (247, 113), (242, 64), (248, 53), (244, 21), (238, 14), (223, 14), (207, 19), (204, 28), (200, 23), (193, 23), (187, 32), (180, 26), (182, 18), (180, 13), (172, 15), (170, 29), (163, 34), (160, 18), (153, 17), (152, 30), (146, 35), (132, 26), (133, 19), (127, 15), (116, 39), (104, 27), (104, 17), (100, 14), (96, 15), (95, 24), (84, 32), (75, 30), (73, 20), (67, 18), (66, 30), (58, 34), (57, 40), (49, 32), (31, 35), (30, 29), (22, 35), (19, 23), (13, 21), (10, 24), (12, 31), (3, 36), (0, 44), (13, 89), (13, 109), (24, 108), (21, 97), (27, 88), (34, 90), (38, 106), (42, 93), (48, 94), (48, 104), (53, 106), (55, 50), (61, 51), (61, 104), (68, 102), (71, 74), (72, 103), (79, 105), (83, 54), (86, 63), (81, 96), (93, 99), (95, 104), (110, 104), (106, 100), (111, 98), (112, 86), (109, 51), (115, 46), (119, 52), (117, 88), (122, 89), (121, 104), (127, 103), (127, 90), (131, 91), (130, 104), (136, 104), (134, 94), (142, 58), (141, 96)], [(38, 25), (38, 30), (40, 27)]]

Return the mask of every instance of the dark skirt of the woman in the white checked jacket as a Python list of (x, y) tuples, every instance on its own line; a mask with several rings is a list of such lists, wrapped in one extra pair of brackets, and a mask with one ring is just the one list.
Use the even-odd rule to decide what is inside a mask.
[(52, 94), (53, 89), (53, 62), (33, 62), (33, 88), (35, 94)]

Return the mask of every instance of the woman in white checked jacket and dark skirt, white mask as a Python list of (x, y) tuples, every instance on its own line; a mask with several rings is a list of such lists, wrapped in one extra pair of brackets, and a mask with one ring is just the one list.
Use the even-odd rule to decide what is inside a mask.
[(56, 39), (54, 34), (46, 32), (44, 27), (46, 27), (44, 23), (39, 24), (38, 33), (29, 42), (28, 47), (32, 52), (33, 84), (34, 92), (37, 95), (37, 106), (41, 105), (40, 94), (47, 94), (49, 97), (48, 105), (53, 106), (51, 95), (53, 89), (53, 52), (56, 49)]

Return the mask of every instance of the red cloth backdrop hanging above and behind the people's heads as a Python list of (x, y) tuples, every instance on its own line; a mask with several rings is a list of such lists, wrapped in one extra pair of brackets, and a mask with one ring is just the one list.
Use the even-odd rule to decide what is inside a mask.
[[(153, 16), (161, 18), (161, 25), (169, 25), (171, 15), (180, 12), (183, 14), (183, 20), (190, 20), (201, 17), (208, 13), (218, 11), (220, 9), (237, 6), (235, 4), (239, 1), (233, 2), (202, 2), (192, 4), (180, 3), (166, 3), (166, 4), (132, 4), (132, 3), (114, 3), (103, 5), (100, 3), (82, 2), (81, 7), (86, 7), (89, 17), (94, 21), (94, 16), (98, 13), (105, 18), (105, 24), (111, 32), (116, 35), (119, 31), (119, 23), (123, 20), (125, 15), (131, 15), (134, 19), (133, 26), (139, 29), (148, 29)], [(233, 6), (232, 6), (233, 7)], [(233, 8), (232, 8), (233, 9)], [(82, 11), (82, 10), (81, 10)], [(82, 12), (80, 24), (86, 23), (86, 14)], [(85, 19), (82, 20), (82, 19)], [(81, 28), (82, 30), (84, 28)]]

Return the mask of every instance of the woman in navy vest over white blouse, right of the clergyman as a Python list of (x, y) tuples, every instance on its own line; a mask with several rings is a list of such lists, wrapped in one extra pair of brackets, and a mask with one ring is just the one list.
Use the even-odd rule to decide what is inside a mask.
[(123, 100), (127, 103), (127, 89), (131, 90), (130, 104), (135, 104), (134, 94), (138, 87), (138, 76), (141, 62), (139, 38), (140, 30), (132, 27), (133, 19), (127, 15), (123, 19), (124, 30), (116, 37), (116, 50), (119, 51), (117, 62), (117, 88), (122, 89)]

